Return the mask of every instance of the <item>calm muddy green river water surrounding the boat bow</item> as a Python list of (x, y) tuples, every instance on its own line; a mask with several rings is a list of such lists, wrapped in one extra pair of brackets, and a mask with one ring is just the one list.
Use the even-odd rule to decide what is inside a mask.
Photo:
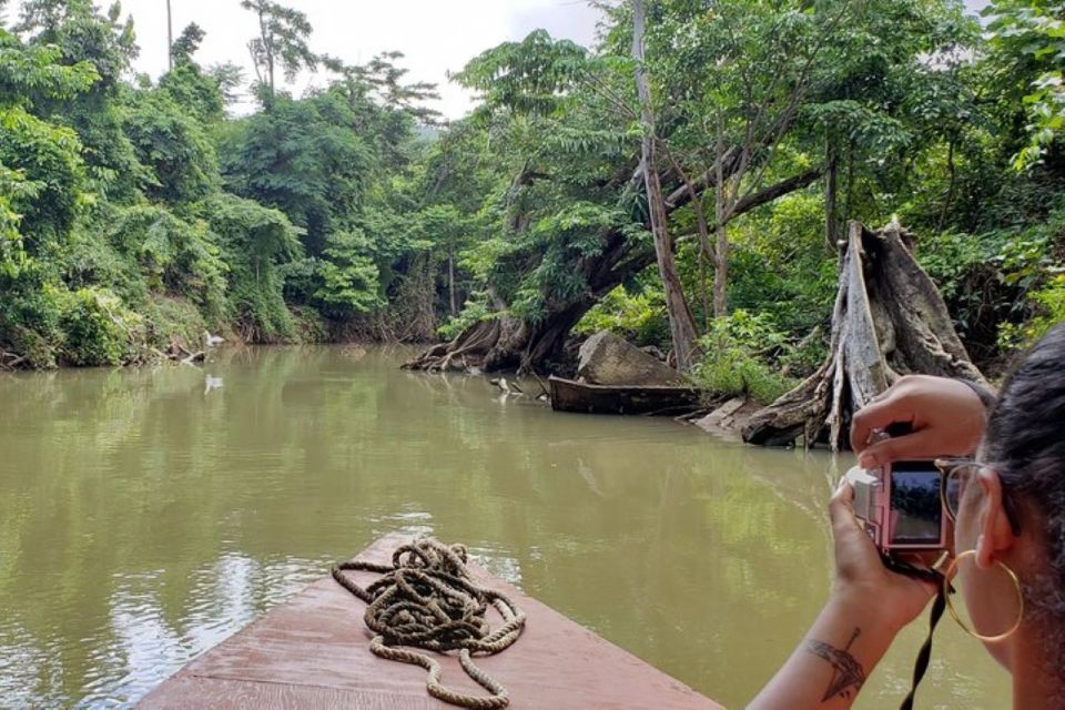
[[(131, 704), (395, 530), (467, 542), (729, 708), (791, 652), (829, 587), (823, 507), (849, 459), (555, 414), (400, 372), (404, 354), (0, 376), (0, 707)], [(859, 707), (897, 707), (921, 638), (899, 639)], [(1007, 700), (946, 620), (919, 707)]]

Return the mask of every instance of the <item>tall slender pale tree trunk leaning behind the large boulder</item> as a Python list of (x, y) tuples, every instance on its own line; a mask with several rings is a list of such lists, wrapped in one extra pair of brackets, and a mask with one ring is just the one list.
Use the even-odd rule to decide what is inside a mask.
[(677, 369), (691, 371), (697, 349), (696, 317), (684, 298), (684, 292), (677, 275), (673, 260), (673, 243), (669, 236), (669, 216), (666, 212), (666, 199), (658, 174), (657, 146), (655, 134), (655, 112), (651, 108), (651, 92), (643, 69), (643, 2), (632, 0), (632, 59), (636, 60), (636, 89), (640, 98), (643, 140), (641, 141), (641, 165), (643, 183), (647, 187), (647, 206), (651, 219), (651, 232), (655, 235), (655, 256), (658, 273), (666, 292), (666, 312), (669, 315), (669, 332), (673, 342)]

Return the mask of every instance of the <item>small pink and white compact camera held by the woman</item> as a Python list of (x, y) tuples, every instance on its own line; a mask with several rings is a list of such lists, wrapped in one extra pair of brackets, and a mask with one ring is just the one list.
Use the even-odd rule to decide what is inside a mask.
[(947, 547), (943, 473), (934, 462), (895, 462), (846, 473), (854, 488), (854, 515), (876, 547), (892, 551)]

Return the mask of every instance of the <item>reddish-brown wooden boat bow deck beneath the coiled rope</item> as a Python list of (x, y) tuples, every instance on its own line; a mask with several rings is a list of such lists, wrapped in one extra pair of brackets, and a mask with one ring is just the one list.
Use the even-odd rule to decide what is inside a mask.
[[(358, 558), (387, 561), (400, 538), (377, 540)], [(473, 567), (480, 582), (526, 611), (521, 638), (477, 663), (510, 691), (510, 707), (558, 709), (720, 708), (513, 586)], [(363, 582), (373, 575), (356, 576)], [(368, 650), (365, 605), (325, 577), (206, 651), (146, 696), (139, 708), (347, 708), (440, 710), (419, 667)], [(446, 657), (444, 683), (484, 692)]]

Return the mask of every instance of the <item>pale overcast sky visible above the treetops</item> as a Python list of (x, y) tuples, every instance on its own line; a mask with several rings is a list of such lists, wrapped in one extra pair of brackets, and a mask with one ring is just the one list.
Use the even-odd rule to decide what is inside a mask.
[[(591, 45), (599, 12), (585, 0), (283, 0), (307, 14), (314, 34), (311, 49), (364, 63), (374, 55), (398, 50), (409, 69), (410, 81), (438, 85), (440, 100), (433, 108), (447, 119), (464, 115), (474, 97), (447, 80), (447, 72), (460, 70), (481, 51), (508, 40), (520, 40), (537, 28), (552, 37)], [(964, 0), (976, 12), (986, 0)], [(9, 17), (18, 13), (11, 3)], [(110, 0), (98, 2), (110, 4)], [(254, 16), (241, 9), (240, 0), (171, 0), (174, 37), (190, 22), (206, 32), (196, 54), (203, 65), (235, 62), (254, 78), (247, 41), (255, 37)], [(158, 79), (166, 71), (166, 0), (123, 0), (123, 14), (132, 14), (140, 57), (134, 70)], [(288, 87), (295, 95), (323, 85), (322, 75), (303, 73)], [(251, 103), (236, 106), (250, 111)]]

